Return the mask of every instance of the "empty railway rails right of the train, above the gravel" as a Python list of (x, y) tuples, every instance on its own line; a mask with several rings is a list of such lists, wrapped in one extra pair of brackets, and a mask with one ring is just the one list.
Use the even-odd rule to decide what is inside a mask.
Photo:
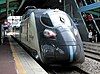
[(84, 43), (85, 56), (100, 62), (100, 44)]

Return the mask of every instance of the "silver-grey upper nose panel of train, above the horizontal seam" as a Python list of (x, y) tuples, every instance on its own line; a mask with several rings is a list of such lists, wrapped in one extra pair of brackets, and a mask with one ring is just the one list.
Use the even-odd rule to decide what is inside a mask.
[(60, 42), (60, 44), (65, 43), (65, 45), (67, 45), (68, 42), (70, 43), (76, 41), (75, 36), (71, 32), (71, 30), (69, 28), (63, 28), (63, 27), (58, 28), (57, 40), (59, 40), (58, 42)]

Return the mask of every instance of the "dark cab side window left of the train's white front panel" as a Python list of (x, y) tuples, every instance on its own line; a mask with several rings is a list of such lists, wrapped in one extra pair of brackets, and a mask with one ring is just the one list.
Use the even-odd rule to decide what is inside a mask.
[(53, 27), (53, 24), (52, 24), (48, 14), (43, 14), (40, 19), (41, 19), (41, 23), (43, 25)]

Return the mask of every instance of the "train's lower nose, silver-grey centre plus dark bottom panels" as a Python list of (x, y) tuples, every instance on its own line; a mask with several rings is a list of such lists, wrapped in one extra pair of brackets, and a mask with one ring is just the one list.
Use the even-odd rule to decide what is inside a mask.
[(43, 59), (48, 63), (68, 63), (77, 60), (80, 47), (70, 29), (58, 28), (56, 39), (42, 46)]

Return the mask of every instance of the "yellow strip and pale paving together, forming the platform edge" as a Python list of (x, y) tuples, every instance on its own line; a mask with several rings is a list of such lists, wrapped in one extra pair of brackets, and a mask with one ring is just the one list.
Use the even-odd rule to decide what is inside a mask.
[(48, 74), (18, 43), (9, 41), (18, 74)]

